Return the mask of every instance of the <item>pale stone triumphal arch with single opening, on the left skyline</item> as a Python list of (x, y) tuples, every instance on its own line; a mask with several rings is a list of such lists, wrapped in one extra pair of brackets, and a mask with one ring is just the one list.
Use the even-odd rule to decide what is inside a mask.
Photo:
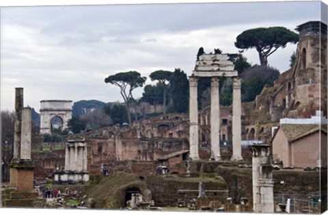
[(40, 134), (50, 134), (51, 128), (67, 128), (72, 118), (72, 101), (42, 100), (40, 106)]

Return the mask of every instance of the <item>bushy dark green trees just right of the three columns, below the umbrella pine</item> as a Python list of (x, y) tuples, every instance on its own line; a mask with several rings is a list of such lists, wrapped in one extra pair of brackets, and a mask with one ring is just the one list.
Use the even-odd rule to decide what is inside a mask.
[(273, 81), (279, 77), (277, 69), (269, 66), (252, 66), (241, 77), (241, 101), (254, 101), (265, 85), (273, 86)]

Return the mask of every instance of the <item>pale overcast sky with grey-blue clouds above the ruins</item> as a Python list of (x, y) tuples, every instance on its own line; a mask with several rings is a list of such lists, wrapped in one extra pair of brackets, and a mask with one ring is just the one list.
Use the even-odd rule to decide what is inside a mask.
[[(122, 101), (105, 77), (181, 68), (191, 75), (204, 47), (238, 53), (236, 36), (255, 27), (293, 30), (320, 20), (320, 1), (72, 5), (1, 8), (1, 110), (14, 110), (14, 88), (24, 105), (40, 109), (45, 99)], [(296, 45), (269, 57), (282, 73)], [(254, 49), (244, 52), (259, 64)], [(155, 84), (148, 80), (146, 84)], [(141, 88), (133, 91), (141, 97)]]

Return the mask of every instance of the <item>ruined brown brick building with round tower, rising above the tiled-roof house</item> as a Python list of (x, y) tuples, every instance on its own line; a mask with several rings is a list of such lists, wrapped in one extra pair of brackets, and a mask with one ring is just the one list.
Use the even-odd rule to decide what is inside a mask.
[(327, 25), (310, 21), (297, 27), (297, 60), (273, 87), (264, 87), (254, 102), (243, 103), (243, 140), (269, 142), (280, 118), (327, 117)]

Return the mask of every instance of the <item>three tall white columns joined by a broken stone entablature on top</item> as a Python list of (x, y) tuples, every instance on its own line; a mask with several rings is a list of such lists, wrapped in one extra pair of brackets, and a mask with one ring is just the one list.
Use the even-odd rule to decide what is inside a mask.
[(220, 155), (220, 77), (232, 77), (232, 157), (231, 160), (243, 160), (241, 157), (241, 78), (234, 71), (234, 64), (227, 54), (203, 54), (196, 62), (195, 70), (189, 76), (189, 144), (191, 160), (200, 160), (198, 154), (199, 124), (197, 107), (197, 81), (199, 77), (210, 77), (210, 142), (211, 160), (221, 160)]

